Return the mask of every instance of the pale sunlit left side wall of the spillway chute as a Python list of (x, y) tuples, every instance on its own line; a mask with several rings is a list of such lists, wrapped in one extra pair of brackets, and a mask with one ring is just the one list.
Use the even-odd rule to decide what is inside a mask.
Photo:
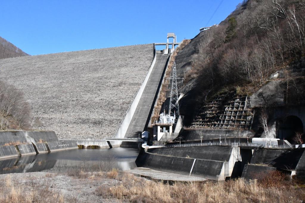
[[(129, 124), (131, 122), (131, 119), (132, 119), (132, 117), (133, 117), (133, 115), (135, 113), (135, 110), (136, 110), (136, 108), (138, 106), (140, 98), (141, 98), (141, 96), (143, 94), (143, 91), (145, 89), (147, 81), (148, 81), (148, 79), (149, 79), (149, 77), (151, 75), (152, 69), (155, 66), (155, 63), (156, 63), (156, 49), (155, 49), (155, 45), (154, 45), (154, 57), (152, 59), (151, 65), (149, 67), (149, 71), (148, 71), (148, 73), (147, 73), (143, 83), (141, 84), (141, 86), (140, 86), (140, 88), (139, 88), (135, 98), (132, 100), (131, 105), (127, 109), (127, 112), (125, 113), (123, 120), (121, 121), (119, 127), (117, 128), (117, 131), (116, 131), (114, 137), (123, 138), (125, 136), (125, 134), (127, 132), (127, 129), (128, 129), (128, 126), (129, 126)], [(117, 145), (120, 145), (120, 144), (122, 144), (122, 141), (115, 141), (115, 142), (113, 142), (112, 146), (117, 146)]]

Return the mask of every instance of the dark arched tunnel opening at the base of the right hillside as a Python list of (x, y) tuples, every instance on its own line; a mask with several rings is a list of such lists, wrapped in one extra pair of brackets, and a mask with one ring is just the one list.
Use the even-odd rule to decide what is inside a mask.
[(293, 142), (296, 133), (303, 133), (303, 123), (297, 116), (288, 116), (284, 121), (280, 122), (278, 130), (278, 138)]

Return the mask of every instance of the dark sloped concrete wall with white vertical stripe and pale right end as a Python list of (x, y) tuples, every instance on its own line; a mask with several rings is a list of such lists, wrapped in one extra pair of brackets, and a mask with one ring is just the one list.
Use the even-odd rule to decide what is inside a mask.
[(241, 161), (239, 148), (208, 146), (149, 149), (139, 154), (136, 164), (164, 172), (225, 180), (233, 174), (236, 162)]

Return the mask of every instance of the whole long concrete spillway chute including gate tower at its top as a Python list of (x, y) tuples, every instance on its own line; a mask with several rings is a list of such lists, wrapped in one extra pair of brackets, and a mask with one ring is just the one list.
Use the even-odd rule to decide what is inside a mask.
[[(168, 38), (171, 37), (173, 38), (173, 43), (168, 42)], [(171, 48), (169, 48), (170, 44)], [(156, 50), (156, 46), (158, 45), (166, 45), (166, 48), (163, 50)], [(179, 45), (179, 43), (177, 43), (176, 35), (174, 33), (167, 34), (167, 43), (154, 44), (154, 58), (148, 74), (116, 131), (114, 138), (118, 139), (115, 141), (114, 139), (112, 139), (113, 141), (109, 140), (110, 143), (113, 143), (111, 143), (112, 145), (115, 146), (120, 144), (120, 147), (138, 147), (139, 143), (133, 141), (120, 141), (120, 139), (143, 137), (142, 134), (147, 130), (147, 126), (150, 122), (170, 55), (174, 51), (176, 45)]]

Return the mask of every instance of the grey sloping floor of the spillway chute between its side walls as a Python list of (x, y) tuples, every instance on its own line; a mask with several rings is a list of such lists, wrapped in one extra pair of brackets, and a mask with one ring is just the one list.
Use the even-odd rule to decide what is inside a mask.
[[(142, 132), (146, 130), (169, 56), (170, 54), (156, 51), (156, 63), (124, 137), (138, 137), (138, 134), (141, 136)], [(138, 147), (138, 145), (122, 142), (121, 147)]]

